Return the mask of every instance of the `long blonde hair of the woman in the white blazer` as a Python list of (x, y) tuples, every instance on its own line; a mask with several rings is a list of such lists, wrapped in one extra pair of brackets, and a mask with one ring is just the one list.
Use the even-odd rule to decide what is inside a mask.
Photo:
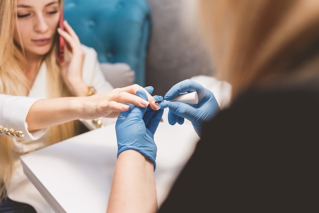
[[(60, 0), (60, 4), (63, 1)], [(13, 35), (16, 16), (17, 0), (0, 1), (0, 92), (15, 96), (28, 96), (30, 86), (22, 72), (26, 62), (23, 46), (15, 44)], [(71, 96), (60, 74), (60, 66), (56, 61), (58, 36), (55, 45), (47, 53), (43, 61), (47, 67), (47, 91), (50, 98)], [(78, 122), (68, 122), (50, 127), (44, 136), (46, 145), (57, 143), (78, 134)], [(10, 182), (14, 170), (14, 153), (11, 137), (0, 136), (0, 202), (6, 198), (5, 185)]]

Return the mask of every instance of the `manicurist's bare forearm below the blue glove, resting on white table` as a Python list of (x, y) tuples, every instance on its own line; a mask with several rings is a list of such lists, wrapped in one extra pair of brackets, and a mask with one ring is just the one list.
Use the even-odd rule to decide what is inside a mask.
[(154, 165), (135, 150), (118, 156), (107, 213), (157, 211)]

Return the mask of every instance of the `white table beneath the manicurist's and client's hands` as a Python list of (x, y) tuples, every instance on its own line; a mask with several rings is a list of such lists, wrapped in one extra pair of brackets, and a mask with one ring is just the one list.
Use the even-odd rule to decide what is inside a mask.
[[(164, 123), (154, 135), (157, 145), (155, 181), (158, 204), (166, 198), (175, 178), (199, 139), (192, 124)], [(117, 142), (115, 124), (96, 129), (20, 157), (23, 171), (56, 212), (105, 213)]]

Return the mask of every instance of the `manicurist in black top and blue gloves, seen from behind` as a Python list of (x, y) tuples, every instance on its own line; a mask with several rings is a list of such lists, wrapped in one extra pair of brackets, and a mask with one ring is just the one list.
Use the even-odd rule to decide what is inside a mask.
[(219, 111), (214, 95), (191, 80), (166, 93), (171, 100), (198, 92), (199, 104), (162, 107), (169, 107), (171, 124), (189, 119), (201, 140), (159, 210), (158, 118), (145, 118), (161, 110), (121, 113), (107, 212), (318, 212), (319, 1), (196, 3), (202, 36), (219, 78), (232, 85), (232, 101)]

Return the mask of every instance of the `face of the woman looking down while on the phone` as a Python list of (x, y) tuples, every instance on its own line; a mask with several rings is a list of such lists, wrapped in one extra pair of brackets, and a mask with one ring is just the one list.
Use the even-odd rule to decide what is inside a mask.
[(14, 40), (23, 46), (26, 56), (43, 56), (50, 51), (59, 15), (59, 0), (17, 0)]

